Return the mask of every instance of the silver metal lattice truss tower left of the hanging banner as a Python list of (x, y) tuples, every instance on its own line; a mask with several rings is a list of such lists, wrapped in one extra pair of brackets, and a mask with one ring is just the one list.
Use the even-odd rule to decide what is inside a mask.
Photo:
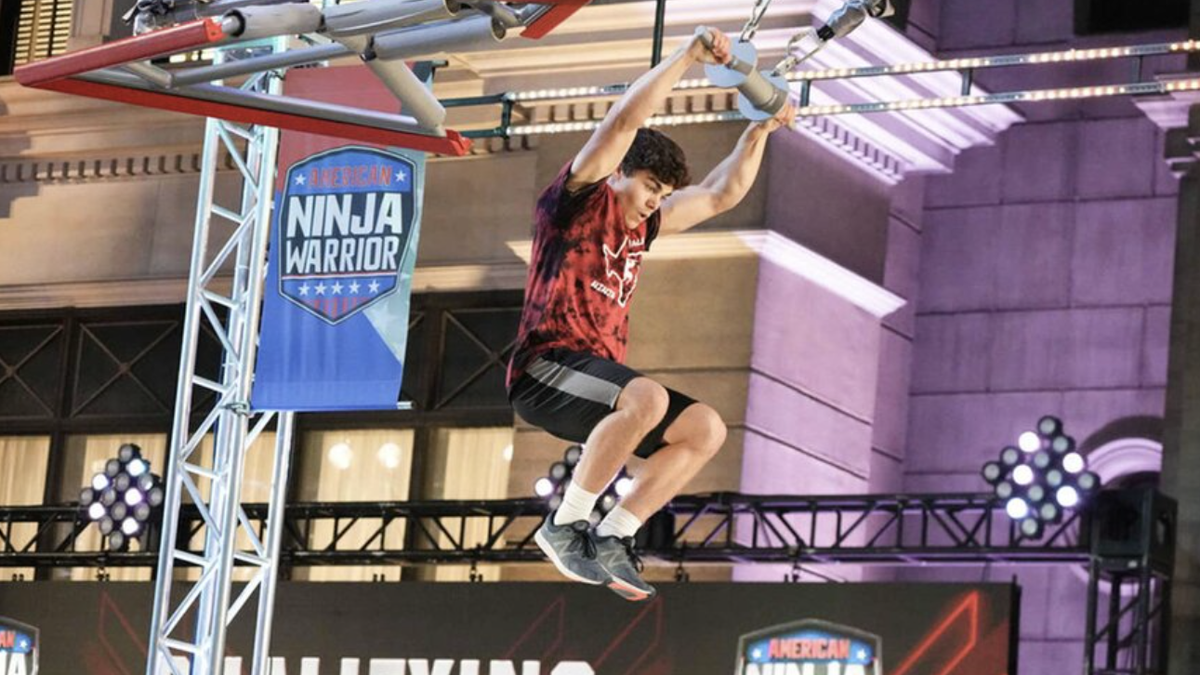
[[(216, 59), (228, 62), (281, 47), (280, 41), (239, 46), (218, 52)], [(278, 95), (281, 78), (272, 71), (258, 73), (241, 89)], [(211, 118), (205, 126), (148, 675), (220, 675), (226, 629), (256, 597), (251, 671), (254, 675), (266, 671), (294, 413), (254, 414), (250, 410), (250, 394), (278, 136), (276, 129), (246, 127)], [(236, 167), (242, 181), (240, 204), (235, 208), (216, 201), (222, 157)], [(226, 281), (230, 273), (232, 285)], [(197, 374), (202, 327), (221, 345), (221, 374), (216, 381)], [(211, 392), (215, 398), (211, 412), (199, 424), (193, 417), (197, 389)], [(269, 515), (256, 528), (241, 504), (244, 465), (248, 448), (272, 419), (276, 441)], [(214, 449), (211, 458), (205, 458), (199, 448), (209, 435)], [(204, 538), (203, 546), (180, 542), (185, 498), (194, 504), (203, 520), (196, 534)], [(184, 536), (190, 533), (184, 531)], [(235, 563), (251, 571), (236, 596)]]

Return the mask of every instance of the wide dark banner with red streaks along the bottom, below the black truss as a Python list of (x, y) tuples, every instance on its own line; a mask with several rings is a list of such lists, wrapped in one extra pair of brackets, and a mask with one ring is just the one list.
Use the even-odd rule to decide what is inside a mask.
[[(660, 591), (631, 604), (564, 584), (281, 583), (270, 673), (1015, 675), (1015, 586), (697, 583)], [(0, 615), (38, 632), (46, 675), (140, 673), (152, 596), (149, 584), (0, 584)], [(250, 673), (253, 614), (247, 605), (230, 629), (228, 674)], [(2, 635), (11, 675), (22, 655), (6, 652)], [(36, 663), (38, 655), (28, 656)]]

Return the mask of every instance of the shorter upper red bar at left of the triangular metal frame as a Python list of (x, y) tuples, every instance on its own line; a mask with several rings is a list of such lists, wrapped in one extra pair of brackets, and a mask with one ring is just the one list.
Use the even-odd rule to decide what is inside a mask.
[(40, 86), (98, 68), (197, 49), (221, 40), (224, 40), (221, 22), (211, 18), (200, 19), (18, 66), (13, 76), (25, 86)]

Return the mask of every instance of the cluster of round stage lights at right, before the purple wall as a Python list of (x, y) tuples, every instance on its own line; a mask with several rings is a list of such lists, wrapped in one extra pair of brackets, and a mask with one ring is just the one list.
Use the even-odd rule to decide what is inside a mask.
[(1075, 440), (1063, 434), (1062, 420), (1050, 416), (1038, 420), (1037, 431), (1021, 434), (1016, 447), (1001, 450), (998, 461), (983, 465), (983, 477), (1028, 538), (1040, 537), (1046, 524), (1061, 522), (1100, 484), (1075, 450)]

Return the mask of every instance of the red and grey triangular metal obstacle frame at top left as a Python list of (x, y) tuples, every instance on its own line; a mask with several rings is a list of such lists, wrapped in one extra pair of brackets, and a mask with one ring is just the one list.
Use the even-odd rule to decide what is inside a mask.
[[(144, 32), (26, 64), (13, 74), (25, 86), (65, 94), (464, 155), (470, 142), (443, 126), (445, 108), (406, 61), (421, 54), (490, 48), (515, 28), (522, 28), (526, 37), (541, 37), (586, 4), (587, 0), (546, 0), (514, 8), (494, 0), (364, 0), (322, 8), (281, 0), (144, 0), (136, 7), (137, 26)], [(151, 18), (143, 20), (146, 17)], [(188, 20), (175, 25), (180, 19)], [(180, 73), (156, 62), (181, 52), (294, 35), (310, 36), (317, 44), (252, 54), (236, 65), (218, 64)], [(368, 112), (278, 92), (263, 96), (245, 88), (210, 84), (337, 55), (358, 55), (396, 97), (401, 113)]]

